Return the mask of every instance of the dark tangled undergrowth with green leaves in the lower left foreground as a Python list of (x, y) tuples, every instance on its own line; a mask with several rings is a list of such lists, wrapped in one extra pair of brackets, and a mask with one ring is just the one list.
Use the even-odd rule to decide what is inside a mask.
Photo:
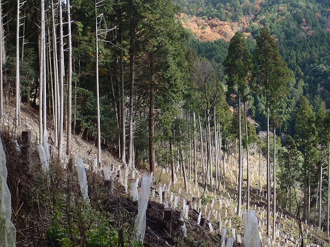
[[(1, 139), (17, 246), (142, 246), (135, 239), (134, 224), (122, 220), (124, 214), (129, 219), (134, 215), (120, 206), (109, 211), (109, 191), (101, 176), (87, 172), (91, 199), (87, 205), (74, 167), (63, 168), (53, 157), (50, 169), (43, 171), (36, 152), (29, 164), (21, 158), (10, 134), (1, 132)], [(122, 196), (117, 193), (122, 192), (114, 189), (111, 198)]]

